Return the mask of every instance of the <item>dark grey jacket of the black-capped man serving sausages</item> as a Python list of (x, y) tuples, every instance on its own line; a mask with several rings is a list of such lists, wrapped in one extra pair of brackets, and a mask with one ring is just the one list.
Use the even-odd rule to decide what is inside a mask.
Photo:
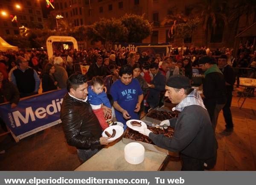
[(173, 137), (150, 133), (149, 138), (155, 145), (195, 159), (206, 160), (215, 156), (218, 143), (207, 110), (190, 105), (179, 113), (178, 118), (169, 121), (175, 128)]

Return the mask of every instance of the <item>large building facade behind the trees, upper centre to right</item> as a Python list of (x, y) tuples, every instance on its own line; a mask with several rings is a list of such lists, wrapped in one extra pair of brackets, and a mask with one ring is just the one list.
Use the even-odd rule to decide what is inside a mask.
[[(171, 14), (189, 16), (198, 9), (202, 0), (55, 0), (55, 10), (52, 14), (61, 14), (70, 26), (90, 25), (100, 18), (119, 18), (127, 14), (144, 14), (152, 23), (153, 32), (143, 43), (169, 43), (181, 46), (182, 40), (168, 36), (172, 25), (163, 25), (165, 17)], [(206, 2), (206, 1), (204, 1)], [(230, 1), (231, 3), (232, 1)], [(224, 10), (225, 11), (225, 10)], [(234, 45), (234, 38), (239, 32), (256, 21), (256, 13), (247, 21), (241, 16), (234, 22), (224, 22), (216, 17), (216, 27), (213, 29), (211, 21), (207, 28), (200, 24), (194, 30), (191, 38), (185, 38), (184, 45), (189, 47), (207, 46), (210, 48), (230, 47)], [(246, 23), (247, 22), (247, 23)]]

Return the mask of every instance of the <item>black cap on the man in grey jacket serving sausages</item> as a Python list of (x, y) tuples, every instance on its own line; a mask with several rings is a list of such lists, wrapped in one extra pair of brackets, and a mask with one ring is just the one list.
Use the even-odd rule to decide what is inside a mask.
[(168, 87), (175, 89), (187, 89), (191, 88), (189, 78), (182, 75), (172, 75), (166, 82)]

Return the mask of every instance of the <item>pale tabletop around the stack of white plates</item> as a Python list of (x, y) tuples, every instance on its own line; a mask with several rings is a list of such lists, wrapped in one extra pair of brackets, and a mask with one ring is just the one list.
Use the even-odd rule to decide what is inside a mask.
[(125, 161), (125, 144), (122, 139), (108, 144), (75, 171), (157, 171), (160, 170), (167, 154), (145, 149), (145, 159), (138, 165)]

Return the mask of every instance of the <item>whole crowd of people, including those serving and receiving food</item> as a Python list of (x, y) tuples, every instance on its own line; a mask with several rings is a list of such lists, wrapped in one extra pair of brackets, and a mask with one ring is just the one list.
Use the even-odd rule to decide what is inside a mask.
[[(141, 133), (160, 147), (181, 152), (183, 170), (203, 170), (207, 160), (211, 161), (208, 167), (215, 164), (218, 146), (214, 133), (221, 110), (226, 131), (233, 130), (230, 111), (236, 77), (233, 67), (255, 69), (256, 52), (249, 54), (242, 46), (237, 58), (230, 49), (211, 52), (206, 47), (186, 47), (184, 51), (176, 47), (165, 57), (159, 54), (150, 57), (145, 50), (125, 49), (58, 51), (49, 59), (44, 51), (1, 52), (0, 103), (9, 101), (10, 108), (14, 108), (20, 98), (38, 94), (40, 83), (43, 92), (67, 88), (61, 120), (67, 143), (77, 147), (79, 159), (84, 162), (101, 145), (110, 142), (101, 136), (108, 127), (106, 118), (115, 114), (126, 129), (127, 120), (140, 119), (142, 111), (161, 106), (167, 97), (177, 104), (175, 109), (182, 115), (161, 123), (175, 127), (175, 139), (156, 136), (147, 129)], [(86, 75), (75, 73), (76, 63), (90, 65)], [(203, 99), (191, 87), (193, 67), (204, 72)], [(102, 80), (107, 75), (113, 77), (108, 95), (103, 91)], [(188, 131), (188, 120), (197, 129)], [(192, 147), (198, 151), (192, 151)], [(202, 151), (206, 147), (207, 151)]]

